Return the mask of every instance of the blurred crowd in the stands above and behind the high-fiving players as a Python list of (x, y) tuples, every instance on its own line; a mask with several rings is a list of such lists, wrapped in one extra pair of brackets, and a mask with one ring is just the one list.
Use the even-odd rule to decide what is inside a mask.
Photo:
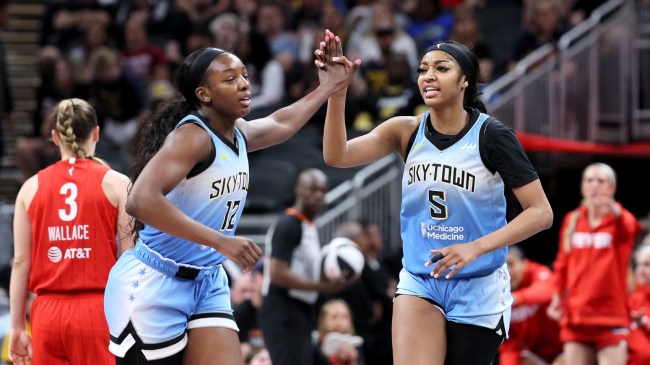
[[(255, 118), (318, 85), (313, 50), (330, 29), (350, 59), (363, 60), (350, 88), (347, 120), (351, 132), (365, 133), (421, 108), (417, 60), (431, 43), (453, 39), (468, 46), (480, 59), (481, 82), (489, 83), (537, 47), (557, 41), (603, 2), (49, 0), (40, 28), (33, 132), (17, 141), (17, 164), (25, 179), (56, 160), (47, 142), (51, 108), (62, 98), (78, 97), (99, 114), (106, 138), (97, 154), (128, 175), (138, 124), (174, 97), (174, 70), (198, 48), (222, 48), (245, 62), (253, 90), (249, 118)], [(500, 9), (512, 12), (507, 18), (515, 22), (501, 21)], [(323, 115), (310, 124), (321, 128)]]

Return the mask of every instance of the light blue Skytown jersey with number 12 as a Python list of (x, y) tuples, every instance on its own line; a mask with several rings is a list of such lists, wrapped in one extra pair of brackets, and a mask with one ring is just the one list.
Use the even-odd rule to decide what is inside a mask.
[[(188, 217), (228, 236), (235, 234), (248, 192), (246, 141), (235, 128), (237, 148), (219, 138), (202, 120), (188, 115), (177, 125), (196, 123), (212, 138), (214, 161), (196, 176), (185, 178), (166, 198)], [(145, 225), (140, 241), (166, 259), (197, 267), (213, 266), (226, 257), (212, 247), (203, 246)]]

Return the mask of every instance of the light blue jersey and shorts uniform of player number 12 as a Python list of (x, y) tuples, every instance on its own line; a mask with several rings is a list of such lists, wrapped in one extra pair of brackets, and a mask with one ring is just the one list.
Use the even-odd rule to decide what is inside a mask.
[[(184, 123), (205, 129), (216, 154), (166, 198), (190, 218), (233, 235), (248, 191), (246, 141), (235, 129), (235, 147), (194, 115), (177, 127)], [(139, 236), (135, 248), (117, 260), (106, 285), (104, 312), (113, 354), (124, 357), (137, 346), (147, 360), (164, 359), (185, 348), (189, 329), (238, 331), (221, 253), (150, 226)]]

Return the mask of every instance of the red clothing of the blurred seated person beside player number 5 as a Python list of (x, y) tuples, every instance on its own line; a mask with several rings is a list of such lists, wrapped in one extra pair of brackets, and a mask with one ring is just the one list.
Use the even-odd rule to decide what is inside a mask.
[(559, 326), (546, 315), (554, 291), (551, 269), (524, 259), (525, 271), (521, 285), (512, 292), (516, 305), (512, 307), (508, 340), (499, 348), (499, 364), (518, 365), (521, 352), (528, 350), (551, 363), (562, 352)]

